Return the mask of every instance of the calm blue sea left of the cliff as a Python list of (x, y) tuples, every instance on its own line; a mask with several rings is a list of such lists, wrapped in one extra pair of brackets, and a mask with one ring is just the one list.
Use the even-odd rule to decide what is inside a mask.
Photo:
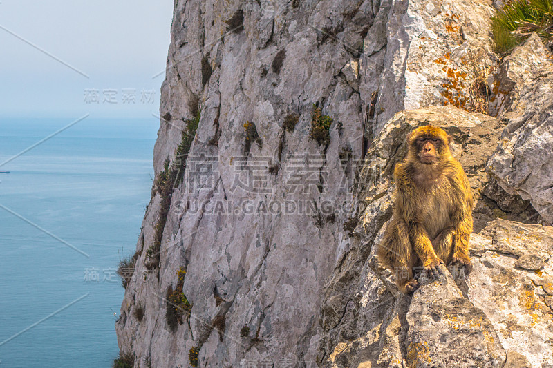
[[(0, 163), (72, 120), (0, 119)], [(88, 117), (0, 166), (0, 368), (111, 367), (157, 128)]]

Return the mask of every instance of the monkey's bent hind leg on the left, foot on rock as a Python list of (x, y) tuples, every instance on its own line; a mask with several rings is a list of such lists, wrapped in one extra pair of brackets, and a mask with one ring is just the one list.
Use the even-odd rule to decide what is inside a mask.
[(392, 271), (402, 293), (412, 293), (420, 286), (413, 278), (413, 266), (418, 258), (411, 246), (409, 229), (403, 220), (392, 219), (377, 249), (377, 258)]

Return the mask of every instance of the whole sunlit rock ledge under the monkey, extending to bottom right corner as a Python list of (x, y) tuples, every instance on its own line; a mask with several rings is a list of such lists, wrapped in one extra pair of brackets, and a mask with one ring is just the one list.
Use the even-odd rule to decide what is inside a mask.
[(339, 342), (326, 367), (550, 367), (552, 246), (550, 226), (491, 222), (471, 238), (468, 277), (457, 267), (422, 275), (413, 296), (388, 300), (381, 324)]

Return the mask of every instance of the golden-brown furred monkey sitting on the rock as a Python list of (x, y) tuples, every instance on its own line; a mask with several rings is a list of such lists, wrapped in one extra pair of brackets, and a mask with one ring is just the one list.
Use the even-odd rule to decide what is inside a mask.
[(393, 213), (376, 256), (395, 273), (397, 287), (412, 293), (420, 284), (413, 268), (438, 278), (440, 264), (472, 269), (469, 238), (473, 197), (461, 164), (453, 158), (451, 136), (441, 128), (421, 126), (407, 137), (408, 151), (396, 164)]

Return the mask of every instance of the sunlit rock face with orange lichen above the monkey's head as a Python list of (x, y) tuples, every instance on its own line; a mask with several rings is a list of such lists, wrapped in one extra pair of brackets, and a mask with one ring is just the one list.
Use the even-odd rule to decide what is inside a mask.
[(380, 8), (360, 59), (359, 91), (369, 103), (364, 113), (373, 122), (370, 135), (376, 137), (400, 110), (433, 104), (474, 108), (470, 90), (478, 70), (494, 64), (491, 1), (384, 0)]

